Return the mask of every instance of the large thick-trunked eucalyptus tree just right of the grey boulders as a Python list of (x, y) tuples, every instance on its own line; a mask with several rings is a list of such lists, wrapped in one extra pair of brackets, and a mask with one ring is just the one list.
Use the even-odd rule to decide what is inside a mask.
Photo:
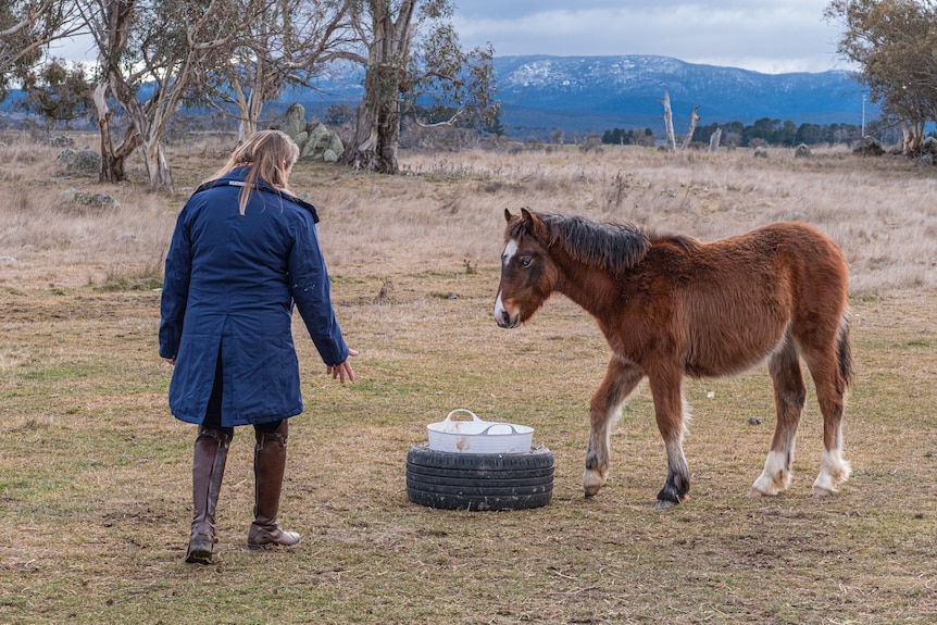
[[(445, 124), (497, 114), (494, 52), (464, 52), (450, 18), (451, 0), (349, 0), (360, 48), (346, 58), (365, 68), (354, 137), (341, 161), (396, 174), (400, 120), (416, 102), (451, 110)], [(440, 123), (440, 122), (437, 122)]]

